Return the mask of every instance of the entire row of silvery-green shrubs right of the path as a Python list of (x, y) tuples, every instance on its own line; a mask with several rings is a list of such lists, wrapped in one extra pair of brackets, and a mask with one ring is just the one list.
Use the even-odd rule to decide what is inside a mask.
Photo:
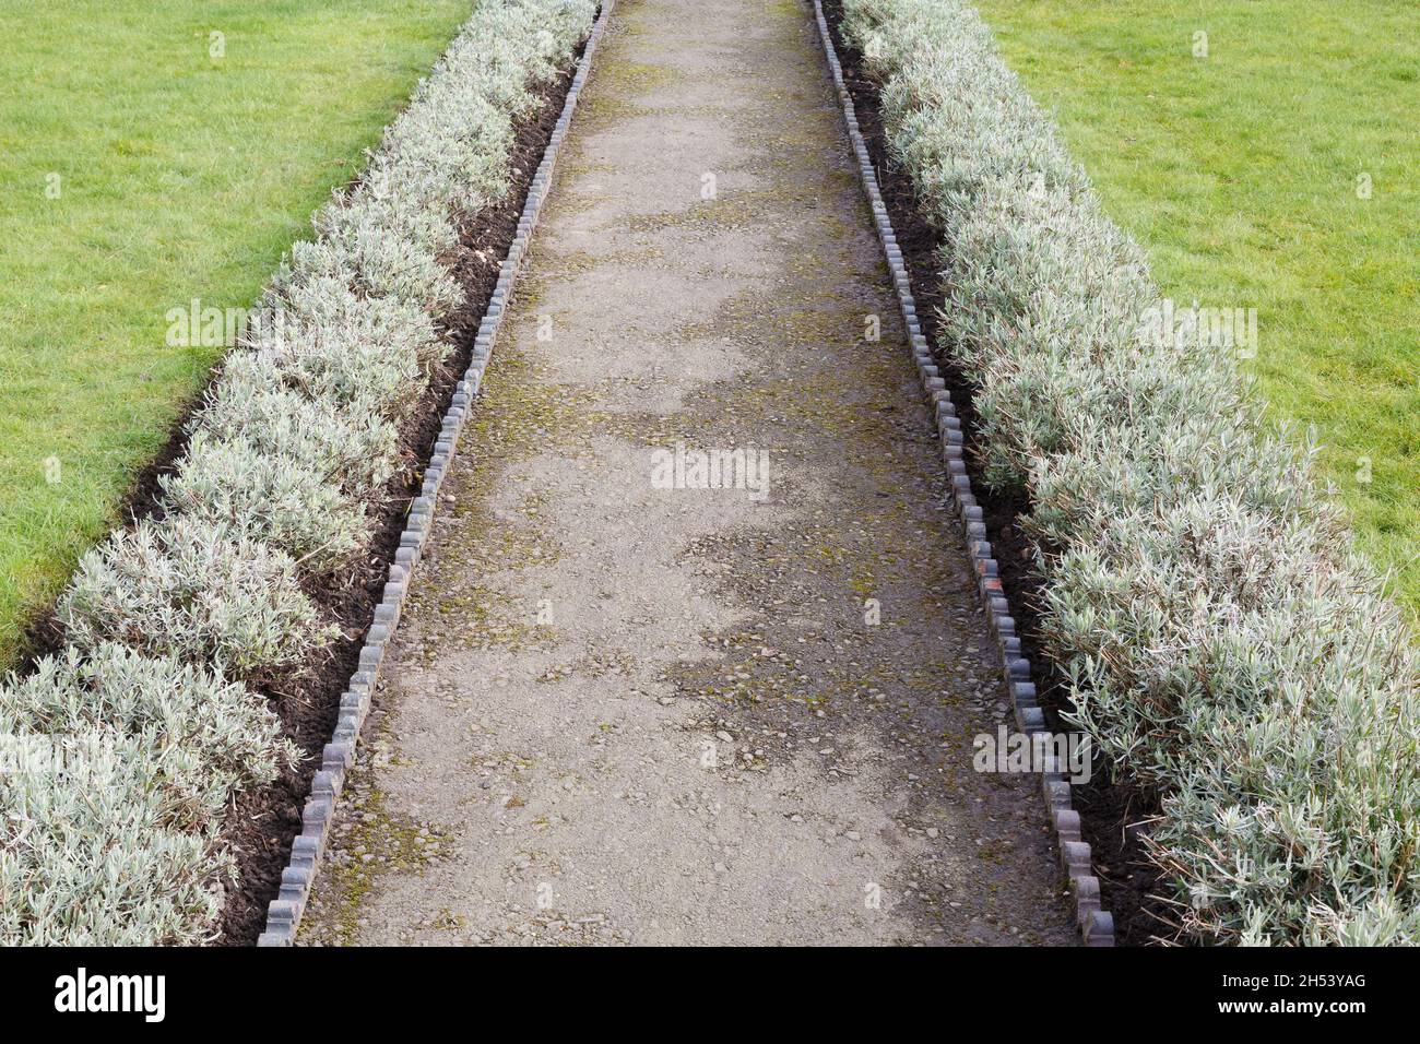
[(943, 348), (987, 480), (1024, 491), (1044, 652), (1162, 814), (1181, 937), (1420, 942), (1420, 656), (1233, 352), (1137, 246), (957, 0), (845, 0), (941, 236)]

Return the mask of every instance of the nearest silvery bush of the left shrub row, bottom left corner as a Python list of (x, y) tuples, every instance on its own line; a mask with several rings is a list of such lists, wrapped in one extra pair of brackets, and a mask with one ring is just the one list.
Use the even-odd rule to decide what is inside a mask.
[(244, 685), (121, 645), (0, 686), (0, 945), (200, 942), (216, 824), (297, 756)]

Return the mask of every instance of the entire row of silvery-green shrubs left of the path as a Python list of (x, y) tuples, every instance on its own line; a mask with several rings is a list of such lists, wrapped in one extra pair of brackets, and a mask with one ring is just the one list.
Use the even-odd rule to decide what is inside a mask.
[(0, 945), (210, 935), (224, 811), (300, 757), (256, 689), (338, 635), (302, 582), (366, 547), (398, 423), (452, 349), (459, 229), (508, 192), (530, 88), (595, 9), (477, 6), (273, 280), (162, 510), (81, 561), (68, 648), (0, 686)]

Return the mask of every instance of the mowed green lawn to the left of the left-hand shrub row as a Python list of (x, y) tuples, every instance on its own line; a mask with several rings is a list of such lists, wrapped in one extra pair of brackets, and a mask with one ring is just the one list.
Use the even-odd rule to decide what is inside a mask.
[(471, 7), (0, 0), (0, 666)]

